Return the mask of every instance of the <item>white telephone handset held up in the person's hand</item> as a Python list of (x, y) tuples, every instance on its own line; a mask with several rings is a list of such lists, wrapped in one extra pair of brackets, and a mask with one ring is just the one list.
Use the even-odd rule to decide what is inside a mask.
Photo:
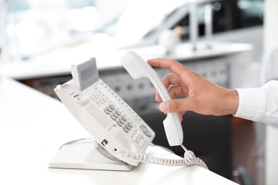
[[(120, 60), (120, 63), (122, 63), (123, 67), (135, 80), (143, 77), (149, 78), (163, 101), (171, 100), (168, 90), (161, 82), (158, 74), (155, 73), (155, 70), (153, 70), (143, 58), (138, 56), (137, 53), (128, 51)], [(183, 132), (178, 114), (176, 112), (168, 113), (163, 121), (163, 125), (170, 146), (181, 145), (183, 141)]]

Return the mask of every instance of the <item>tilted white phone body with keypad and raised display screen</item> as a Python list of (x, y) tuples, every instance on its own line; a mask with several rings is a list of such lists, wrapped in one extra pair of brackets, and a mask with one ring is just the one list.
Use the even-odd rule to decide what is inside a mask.
[[(98, 78), (96, 59), (72, 65), (71, 73), (73, 80), (54, 91), (96, 142), (113, 156), (120, 149), (144, 153), (155, 132)], [(115, 157), (133, 166), (139, 163), (123, 155)]]

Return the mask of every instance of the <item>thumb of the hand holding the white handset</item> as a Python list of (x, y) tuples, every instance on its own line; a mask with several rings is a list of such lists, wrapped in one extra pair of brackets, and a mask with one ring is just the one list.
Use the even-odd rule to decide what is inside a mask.
[(187, 98), (167, 100), (160, 103), (160, 111), (164, 113), (168, 112), (183, 112), (189, 110), (187, 105), (190, 105)]

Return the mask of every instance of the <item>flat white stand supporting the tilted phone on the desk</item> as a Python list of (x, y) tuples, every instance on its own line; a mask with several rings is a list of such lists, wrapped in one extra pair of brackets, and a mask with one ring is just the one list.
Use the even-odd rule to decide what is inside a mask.
[(101, 154), (95, 140), (65, 145), (51, 159), (49, 168), (58, 169), (98, 169), (112, 171), (130, 171), (133, 166), (125, 162), (109, 159)]

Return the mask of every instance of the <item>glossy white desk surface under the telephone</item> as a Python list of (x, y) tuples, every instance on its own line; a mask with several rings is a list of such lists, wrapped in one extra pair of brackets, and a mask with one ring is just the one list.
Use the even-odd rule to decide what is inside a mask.
[[(48, 168), (62, 144), (87, 136), (61, 102), (0, 78), (0, 184), (235, 184), (199, 166), (139, 164), (131, 171)], [(159, 147), (148, 152), (169, 155)]]

